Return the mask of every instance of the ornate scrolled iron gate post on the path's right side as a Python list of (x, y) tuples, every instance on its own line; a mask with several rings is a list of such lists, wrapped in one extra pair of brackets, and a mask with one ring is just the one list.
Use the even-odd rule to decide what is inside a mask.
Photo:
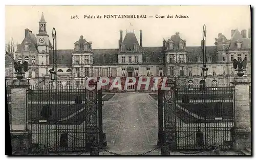
[(165, 143), (170, 150), (176, 150), (176, 108), (174, 90), (164, 92), (164, 133)]

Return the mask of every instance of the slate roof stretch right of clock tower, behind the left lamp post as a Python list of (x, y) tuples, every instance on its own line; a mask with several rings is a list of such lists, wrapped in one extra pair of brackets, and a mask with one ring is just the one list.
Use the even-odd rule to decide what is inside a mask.
[[(57, 64), (72, 65), (72, 51), (73, 50), (57, 50)], [(53, 62), (53, 51), (49, 52), (49, 64)]]

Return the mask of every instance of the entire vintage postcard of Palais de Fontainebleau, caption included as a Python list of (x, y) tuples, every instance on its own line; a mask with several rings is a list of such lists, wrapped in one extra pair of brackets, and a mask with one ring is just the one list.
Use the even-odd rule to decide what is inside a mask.
[(10, 155), (251, 155), (250, 6), (6, 6)]

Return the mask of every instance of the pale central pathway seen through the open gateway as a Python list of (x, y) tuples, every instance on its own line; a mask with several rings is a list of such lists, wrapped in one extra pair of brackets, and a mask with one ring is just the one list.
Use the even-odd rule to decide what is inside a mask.
[(147, 93), (115, 94), (103, 105), (103, 132), (109, 151), (138, 154), (154, 149), (157, 147), (158, 108)]

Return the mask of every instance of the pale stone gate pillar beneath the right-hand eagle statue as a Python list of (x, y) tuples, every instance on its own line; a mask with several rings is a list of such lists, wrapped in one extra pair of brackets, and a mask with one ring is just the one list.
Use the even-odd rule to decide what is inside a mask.
[(236, 77), (234, 85), (234, 126), (231, 129), (232, 149), (243, 150), (251, 146), (249, 79)]

